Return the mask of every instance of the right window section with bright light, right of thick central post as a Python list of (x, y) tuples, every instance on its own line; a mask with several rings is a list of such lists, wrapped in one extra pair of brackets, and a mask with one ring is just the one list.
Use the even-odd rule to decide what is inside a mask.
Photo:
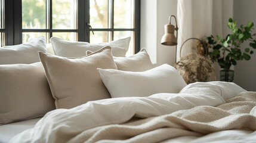
[(109, 42), (131, 36), (127, 55), (134, 54), (134, 0), (90, 0), (90, 42)]

